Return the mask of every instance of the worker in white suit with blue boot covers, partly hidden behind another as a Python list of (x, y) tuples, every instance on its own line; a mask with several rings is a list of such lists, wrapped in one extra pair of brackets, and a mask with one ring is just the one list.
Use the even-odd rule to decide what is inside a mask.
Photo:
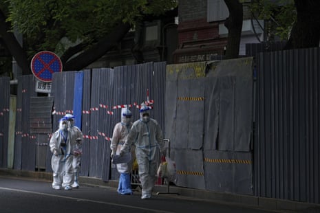
[[(132, 113), (129, 109), (121, 109), (121, 122), (118, 122), (116, 126), (114, 126), (114, 133), (111, 139), (111, 158), (114, 158), (114, 155), (119, 155), (123, 144), (125, 144), (125, 139), (132, 126), (131, 116)], [(134, 161), (134, 148), (131, 148), (131, 156), (131, 161), (128, 163), (116, 164), (116, 168), (120, 173), (117, 190), (119, 194), (133, 194), (131, 190), (130, 173)]]

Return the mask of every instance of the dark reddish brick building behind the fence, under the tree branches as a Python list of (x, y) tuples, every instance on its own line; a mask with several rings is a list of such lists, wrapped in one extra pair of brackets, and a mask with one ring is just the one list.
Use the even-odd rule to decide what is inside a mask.
[[(141, 23), (117, 48), (89, 66), (116, 67), (137, 63), (166, 61), (189, 63), (217, 60), (224, 56), (228, 30), (224, 21), (228, 8), (224, 0), (180, 0), (178, 17)], [(244, 3), (244, 21), (239, 55), (246, 55), (246, 43), (264, 40), (264, 21), (252, 19)]]

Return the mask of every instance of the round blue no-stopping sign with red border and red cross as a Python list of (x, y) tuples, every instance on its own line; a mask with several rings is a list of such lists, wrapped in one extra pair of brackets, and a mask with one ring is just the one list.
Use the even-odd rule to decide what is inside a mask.
[(36, 78), (43, 82), (51, 82), (54, 72), (62, 71), (61, 60), (50, 51), (35, 54), (31, 60), (31, 71)]

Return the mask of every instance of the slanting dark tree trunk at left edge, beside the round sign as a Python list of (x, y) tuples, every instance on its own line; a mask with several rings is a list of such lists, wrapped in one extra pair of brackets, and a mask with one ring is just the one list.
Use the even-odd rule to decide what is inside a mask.
[(17, 38), (12, 32), (10, 32), (10, 25), (6, 23), (6, 16), (0, 10), (0, 35), (6, 43), (6, 46), (10, 54), (17, 61), (19, 67), (22, 69), (22, 74), (31, 74), (30, 63), (28, 63), (28, 57), (23, 51), (21, 45), (17, 41)]

